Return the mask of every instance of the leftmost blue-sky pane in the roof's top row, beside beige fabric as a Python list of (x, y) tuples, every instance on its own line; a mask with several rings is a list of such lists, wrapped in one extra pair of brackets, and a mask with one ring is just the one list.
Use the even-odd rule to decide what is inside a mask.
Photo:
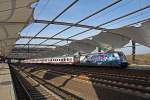
[(40, 0), (34, 11), (34, 18), (39, 20), (52, 20), (72, 2), (72, 0)]

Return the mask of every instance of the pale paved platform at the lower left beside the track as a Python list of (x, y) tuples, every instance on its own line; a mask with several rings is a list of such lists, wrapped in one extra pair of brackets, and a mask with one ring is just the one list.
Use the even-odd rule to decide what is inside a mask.
[(0, 63), (0, 100), (16, 100), (8, 64)]

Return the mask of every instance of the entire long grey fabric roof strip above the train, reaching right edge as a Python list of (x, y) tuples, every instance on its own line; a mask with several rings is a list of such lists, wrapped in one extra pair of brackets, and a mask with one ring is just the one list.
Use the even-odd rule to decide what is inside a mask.
[(118, 29), (110, 29), (93, 36), (92, 40), (83, 39), (73, 41), (66, 46), (57, 47), (53, 54), (64, 55), (74, 54), (76, 52), (89, 53), (96, 47), (112, 47), (121, 48), (128, 44), (130, 40), (141, 43), (150, 47), (150, 20), (144, 22), (141, 27), (122, 27)]

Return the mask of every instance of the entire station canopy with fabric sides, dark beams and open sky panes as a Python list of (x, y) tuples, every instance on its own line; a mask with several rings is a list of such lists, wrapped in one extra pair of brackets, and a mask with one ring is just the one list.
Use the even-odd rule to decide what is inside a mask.
[(34, 48), (41, 48), (36, 54), (62, 56), (90, 53), (96, 47), (122, 48), (130, 40), (150, 47), (149, 0), (1, 2), (1, 55), (7, 55), (17, 39), (13, 50), (25, 49), (28, 57)]

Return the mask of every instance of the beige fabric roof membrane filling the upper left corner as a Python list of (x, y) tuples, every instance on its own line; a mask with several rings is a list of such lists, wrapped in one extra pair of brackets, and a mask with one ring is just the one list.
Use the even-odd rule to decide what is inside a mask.
[(0, 56), (7, 56), (27, 22), (36, 0), (0, 0)]

